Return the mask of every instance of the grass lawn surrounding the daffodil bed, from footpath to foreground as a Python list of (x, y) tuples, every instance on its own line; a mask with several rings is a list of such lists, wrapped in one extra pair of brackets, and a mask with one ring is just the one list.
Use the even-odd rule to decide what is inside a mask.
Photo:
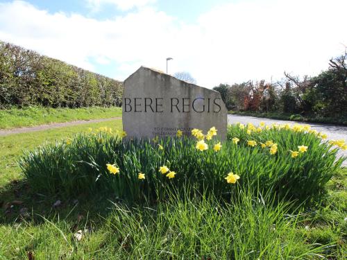
[(23, 150), (101, 126), (115, 132), (121, 120), (0, 137), (0, 259), (346, 258), (346, 168), (319, 204), (296, 210), (246, 191), (233, 204), (172, 194), (136, 207), (112, 194), (32, 192), (15, 162)]

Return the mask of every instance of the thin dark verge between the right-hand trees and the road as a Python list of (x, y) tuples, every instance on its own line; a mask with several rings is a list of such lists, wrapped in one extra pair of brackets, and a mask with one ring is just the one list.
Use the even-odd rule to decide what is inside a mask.
[(307, 123), (331, 123), (336, 125), (347, 125), (347, 117), (332, 118), (332, 117), (312, 117), (302, 116), (300, 114), (286, 114), (278, 112), (251, 112), (251, 111), (229, 111), (229, 114), (238, 114), (240, 116), (255, 116), (266, 119), (279, 119), (287, 121), (301, 121)]

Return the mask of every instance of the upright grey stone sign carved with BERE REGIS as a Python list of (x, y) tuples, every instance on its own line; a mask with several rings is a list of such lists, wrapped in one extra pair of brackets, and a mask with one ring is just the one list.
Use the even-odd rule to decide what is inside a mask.
[(128, 137), (204, 134), (214, 126), (226, 139), (227, 110), (221, 94), (178, 80), (166, 73), (140, 67), (124, 81), (123, 128)]

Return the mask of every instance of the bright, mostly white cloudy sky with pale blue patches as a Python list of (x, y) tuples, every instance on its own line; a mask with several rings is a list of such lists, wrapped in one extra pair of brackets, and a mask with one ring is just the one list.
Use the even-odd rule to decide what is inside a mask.
[(0, 40), (117, 80), (141, 65), (198, 85), (314, 76), (347, 46), (347, 0), (0, 0)]

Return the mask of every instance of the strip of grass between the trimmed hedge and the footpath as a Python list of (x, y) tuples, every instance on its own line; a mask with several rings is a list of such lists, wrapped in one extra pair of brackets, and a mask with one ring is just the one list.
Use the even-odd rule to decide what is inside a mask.
[(44, 123), (108, 119), (121, 116), (121, 107), (51, 108), (26, 107), (0, 110), (0, 129), (21, 128)]

